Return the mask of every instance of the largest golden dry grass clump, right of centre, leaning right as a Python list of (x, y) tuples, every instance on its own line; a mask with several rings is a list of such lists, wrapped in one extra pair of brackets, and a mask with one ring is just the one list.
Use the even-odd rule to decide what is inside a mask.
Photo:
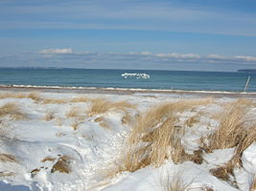
[(134, 172), (148, 165), (157, 167), (165, 159), (173, 159), (175, 163), (194, 159), (200, 163), (202, 159), (199, 153), (194, 156), (185, 153), (181, 142), (185, 131), (176, 124), (179, 113), (212, 101), (213, 99), (209, 98), (185, 99), (162, 104), (140, 115), (128, 137), (129, 148), (125, 148), (119, 172)]

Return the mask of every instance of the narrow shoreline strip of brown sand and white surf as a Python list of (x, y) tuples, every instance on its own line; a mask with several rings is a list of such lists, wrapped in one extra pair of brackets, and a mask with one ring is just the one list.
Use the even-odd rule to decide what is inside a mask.
[(12, 92), (42, 92), (42, 93), (77, 93), (77, 94), (163, 94), (186, 96), (214, 96), (214, 97), (255, 97), (256, 92), (240, 93), (227, 91), (187, 91), (187, 90), (159, 90), (136, 88), (97, 88), (97, 87), (61, 87), (61, 86), (33, 86), (33, 85), (0, 85), (0, 91)]

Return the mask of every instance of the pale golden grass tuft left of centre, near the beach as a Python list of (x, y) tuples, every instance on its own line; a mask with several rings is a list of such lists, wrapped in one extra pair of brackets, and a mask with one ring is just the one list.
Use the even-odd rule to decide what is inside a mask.
[(97, 116), (105, 114), (108, 111), (126, 111), (128, 108), (135, 108), (134, 105), (129, 104), (127, 101), (111, 102), (102, 98), (91, 100), (91, 108), (88, 111), (88, 116)]

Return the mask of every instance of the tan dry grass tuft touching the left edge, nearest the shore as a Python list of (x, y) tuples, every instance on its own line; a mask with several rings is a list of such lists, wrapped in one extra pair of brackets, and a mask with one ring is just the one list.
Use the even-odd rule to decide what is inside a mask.
[(16, 120), (25, 118), (25, 115), (21, 113), (18, 105), (14, 102), (6, 103), (0, 107), (0, 117), (6, 116), (10, 116)]

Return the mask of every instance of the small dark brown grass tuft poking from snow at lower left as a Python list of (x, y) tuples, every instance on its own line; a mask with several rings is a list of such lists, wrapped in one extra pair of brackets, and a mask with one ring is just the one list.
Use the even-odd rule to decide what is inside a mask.
[(70, 164), (70, 158), (68, 156), (62, 156), (53, 165), (51, 173), (59, 172), (59, 173), (69, 174), (71, 172), (71, 168), (69, 164)]

